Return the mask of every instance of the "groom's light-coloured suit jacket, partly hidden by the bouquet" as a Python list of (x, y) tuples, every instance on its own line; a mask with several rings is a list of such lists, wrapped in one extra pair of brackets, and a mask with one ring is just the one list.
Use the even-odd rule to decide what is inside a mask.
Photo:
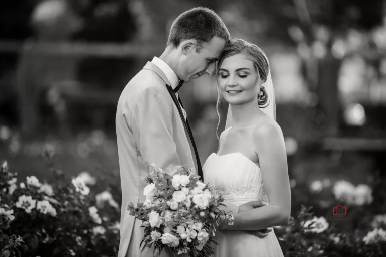
[(179, 165), (195, 167), (184, 125), (165, 84), (170, 85), (164, 72), (148, 62), (126, 85), (118, 101), (116, 132), (122, 187), (118, 257), (153, 254), (147, 249), (140, 253), (143, 228), (127, 210), (129, 202), (136, 205), (145, 201), (149, 164), (155, 163), (171, 176)]

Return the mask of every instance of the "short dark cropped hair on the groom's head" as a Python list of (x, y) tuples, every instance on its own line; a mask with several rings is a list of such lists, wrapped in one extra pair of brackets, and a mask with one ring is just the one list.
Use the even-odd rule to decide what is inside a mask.
[(170, 28), (167, 46), (177, 48), (184, 40), (195, 39), (199, 51), (213, 37), (219, 37), (228, 42), (231, 36), (221, 18), (206, 7), (192, 8), (180, 14)]

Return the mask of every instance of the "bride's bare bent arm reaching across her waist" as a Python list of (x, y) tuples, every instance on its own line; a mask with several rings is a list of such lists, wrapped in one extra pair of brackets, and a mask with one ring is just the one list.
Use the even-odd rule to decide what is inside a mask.
[(234, 224), (222, 224), (222, 230), (259, 230), (286, 225), (291, 213), (291, 191), (284, 137), (276, 124), (264, 124), (254, 133), (263, 183), (269, 204), (234, 214)]

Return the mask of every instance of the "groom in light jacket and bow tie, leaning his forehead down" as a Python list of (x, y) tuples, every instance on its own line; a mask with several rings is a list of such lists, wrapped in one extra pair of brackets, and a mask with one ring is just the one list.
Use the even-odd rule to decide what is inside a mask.
[[(149, 164), (155, 163), (171, 176), (180, 165), (194, 168), (190, 142), (195, 149), (196, 170), (202, 175), (177, 90), (183, 81), (212, 75), (215, 63), (229, 40), (229, 32), (215, 12), (203, 7), (186, 11), (173, 22), (162, 55), (148, 62), (123, 90), (116, 115), (122, 186), (118, 257), (153, 255), (152, 249), (148, 248), (141, 253), (139, 246), (143, 229), (127, 210), (129, 202), (145, 201), (143, 189)], [(230, 205), (227, 211), (237, 213), (259, 206), (258, 201), (240, 207)], [(258, 236), (265, 235), (261, 233)]]

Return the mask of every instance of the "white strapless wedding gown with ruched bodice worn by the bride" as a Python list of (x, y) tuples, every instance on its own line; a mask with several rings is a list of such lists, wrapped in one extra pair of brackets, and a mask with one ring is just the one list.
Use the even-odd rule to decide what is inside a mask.
[[(211, 154), (203, 167), (204, 182), (224, 195), (225, 201), (241, 205), (259, 200), (268, 204), (260, 168), (241, 153)], [(217, 231), (216, 257), (284, 256), (274, 231), (259, 238), (244, 231)]]

